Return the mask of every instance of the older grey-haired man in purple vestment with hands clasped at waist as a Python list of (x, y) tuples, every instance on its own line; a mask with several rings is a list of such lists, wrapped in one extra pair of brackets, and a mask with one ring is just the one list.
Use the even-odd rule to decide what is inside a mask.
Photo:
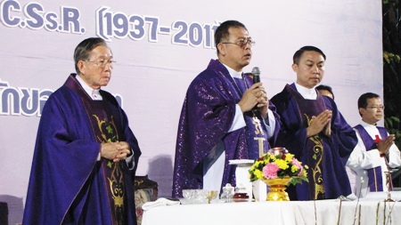
[(113, 56), (102, 38), (74, 52), (78, 74), (40, 119), (23, 224), (136, 224), (133, 178), (141, 151), (109, 92)]

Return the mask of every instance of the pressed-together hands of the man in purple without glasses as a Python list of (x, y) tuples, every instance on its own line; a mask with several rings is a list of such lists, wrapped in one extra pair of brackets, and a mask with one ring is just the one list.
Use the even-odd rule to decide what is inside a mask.
[(331, 137), (331, 110), (325, 109), (317, 117), (313, 116), (307, 127), (307, 137), (323, 132), (327, 137)]

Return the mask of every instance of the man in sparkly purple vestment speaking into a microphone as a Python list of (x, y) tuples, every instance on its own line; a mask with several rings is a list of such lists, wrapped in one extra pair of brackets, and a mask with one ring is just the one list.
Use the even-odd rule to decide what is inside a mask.
[[(254, 44), (241, 22), (228, 20), (215, 32), (218, 60), (196, 76), (179, 119), (173, 197), (183, 189), (235, 186), (231, 159), (256, 159), (279, 130), (274, 105), (262, 83), (242, 74)], [(277, 121), (276, 121), (277, 119)]]

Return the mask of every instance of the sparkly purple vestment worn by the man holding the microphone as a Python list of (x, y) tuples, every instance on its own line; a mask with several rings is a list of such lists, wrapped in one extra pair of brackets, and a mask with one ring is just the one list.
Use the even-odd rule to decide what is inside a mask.
[[(228, 160), (258, 157), (253, 142), (247, 143), (252, 135), (255, 136), (251, 112), (244, 113), (246, 127), (228, 133), (233, 124), (235, 105), (241, 100), (244, 87), (252, 84), (250, 77), (243, 78), (244, 84), (237, 84), (220, 61), (210, 60), (208, 68), (190, 84), (178, 125), (173, 197), (182, 197), (183, 189), (202, 189), (202, 160), (210, 157), (211, 149), (217, 144), (225, 149), (222, 185), (231, 183), (235, 186), (235, 166), (228, 165)], [(269, 108), (276, 119), (273, 103), (270, 102)], [(269, 141), (274, 141), (279, 130), (278, 121), (275, 125), (274, 137)], [(266, 126), (262, 125), (262, 129), (266, 135)], [(270, 149), (269, 141), (264, 141), (265, 152)]]

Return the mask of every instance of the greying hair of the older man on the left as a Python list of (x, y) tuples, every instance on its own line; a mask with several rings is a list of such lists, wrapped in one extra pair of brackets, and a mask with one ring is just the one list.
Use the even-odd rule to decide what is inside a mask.
[(91, 51), (99, 45), (107, 47), (106, 41), (104, 41), (100, 37), (89, 37), (78, 44), (74, 51), (74, 63), (77, 74), (80, 73), (78, 68), (78, 61), (89, 60), (89, 58), (91, 57)]

